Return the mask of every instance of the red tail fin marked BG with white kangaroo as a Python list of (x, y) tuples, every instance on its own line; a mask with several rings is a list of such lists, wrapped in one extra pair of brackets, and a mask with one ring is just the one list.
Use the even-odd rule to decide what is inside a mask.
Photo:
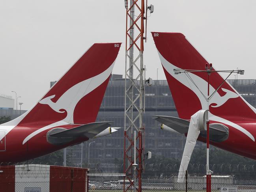
[(95, 43), (39, 102), (15, 119), (20, 126), (94, 122), (121, 43)]

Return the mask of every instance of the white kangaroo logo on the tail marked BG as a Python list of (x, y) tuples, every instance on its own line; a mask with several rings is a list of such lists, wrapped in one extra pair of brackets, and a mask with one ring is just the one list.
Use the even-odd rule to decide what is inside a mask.
[[(77, 105), (78, 101), (82, 99), (85, 95), (96, 89), (98, 86), (103, 84), (105, 80), (110, 76), (112, 69), (114, 67), (114, 62), (106, 71), (103, 71), (99, 75), (93, 76), (92, 78), (86, 79), (82, 82), (79, 82), (78, 84), (74, 85), (73, 87), (69, 88), (65, 93), (63, 93), (62, 96), (56, 101), (56, 103), (52, 102), (51, 99), (55, 97), (55, 95), (51, 95), (49, 97), (46, 97), (44, 99), (41, 99), (39, 101), (40, 104), (47, 104), (52, 108), (52, 110), (58, 112), (58, 113), (64, 113), (67, 112), (67, 116), (62, 119), (61, 121), (54, 122), (50, 125), (47, 125), (45, 127), (42, 127), (40, 129), (37, 129), (36, 131), (32, 132), (29, 136), (27, 136), (22, 144), (25, 144), (28, 140), (30, 140), (32, 137), (34, 137), (36, 134), (50, 129), (52, 127), (61, 126), (61, 125), (67, 125), (67, 124), (73, 124), (73, 114), (75, 110), (75, 106)], [(61, 110), (65, 111), (61, 111)]]

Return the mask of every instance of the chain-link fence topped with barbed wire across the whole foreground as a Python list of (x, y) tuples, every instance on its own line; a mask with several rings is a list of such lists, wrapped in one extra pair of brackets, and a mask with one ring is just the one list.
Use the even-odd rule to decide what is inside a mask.
[[(82, 168), (39, 164), (0, 166), (0, 192), (121, 192), (123, 188), (133, 191), (133, 180), (131, 185), (122, 174), (123, 165), (90, 164), (89, 167), (87, 175), (87, 169)], [(256, 192), (254, 165), (215, 164), (210, 169), (213, 171), (213, 192), (219, 192), (222, 187), (233, 187), (238, 192)], [(178, 183), (178, 164), (146, 164), (142, 172), (142, 191), (206, 191), (206, 166), (190, 164), (187, 170), (187, 179)]]

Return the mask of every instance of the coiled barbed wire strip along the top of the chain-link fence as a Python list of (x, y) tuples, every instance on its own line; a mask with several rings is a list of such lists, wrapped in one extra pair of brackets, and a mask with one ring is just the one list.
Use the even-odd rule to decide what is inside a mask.
[[(30, 164), (34, 164), (31, 162)], [(43, 168), (43, 166), (62, 166), (62, 162), (54, 162), (52, 164), (49, 163), (36, 163), (35, 166), (39, 168)], [(22, 163), (13, 163), (13, 162), (2, 162), (0, 163), (0, 168), (4, 167), (14, 167), (14, 166), (28, 166), (27, 162)], [(73, 167), (80, 168), (80, 164), (73, 164)], [(101, 163), (92, 163), (90, 165), (83, 165), (84, 168), (90, 168), (90, 172), (105, 172), (105, 173), (120, 173), (123, 170), (123, 164), (101, 164)], [(179, 164), (163, 164), (163, 163), (152, 163), (144, 165), (144, 173), (152, 172), (154, 174), (159, 173), (168, 173), (174, 174), (179, 171)], [(214, 174), (243, 174), (243, 173), (251, 173), (256, 174), (256, 165), (254, 164), (210, 164), (209, 169), (213, 171)], [(206, 164), (189, 164), (187, 170), (190, 174), (204, 174), (206, 172)], [(184, 170), (185, 171), (185, 170)]]

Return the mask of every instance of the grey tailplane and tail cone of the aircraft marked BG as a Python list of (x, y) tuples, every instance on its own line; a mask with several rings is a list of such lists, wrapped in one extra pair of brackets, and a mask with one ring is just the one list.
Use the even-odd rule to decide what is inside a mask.
[(53, 145), (63, 145), (77, 138), (96, 138), (111, 134), (110, 121), (78, 125), (71, 129), (55, 128), (47, 133), (47, 141)]

